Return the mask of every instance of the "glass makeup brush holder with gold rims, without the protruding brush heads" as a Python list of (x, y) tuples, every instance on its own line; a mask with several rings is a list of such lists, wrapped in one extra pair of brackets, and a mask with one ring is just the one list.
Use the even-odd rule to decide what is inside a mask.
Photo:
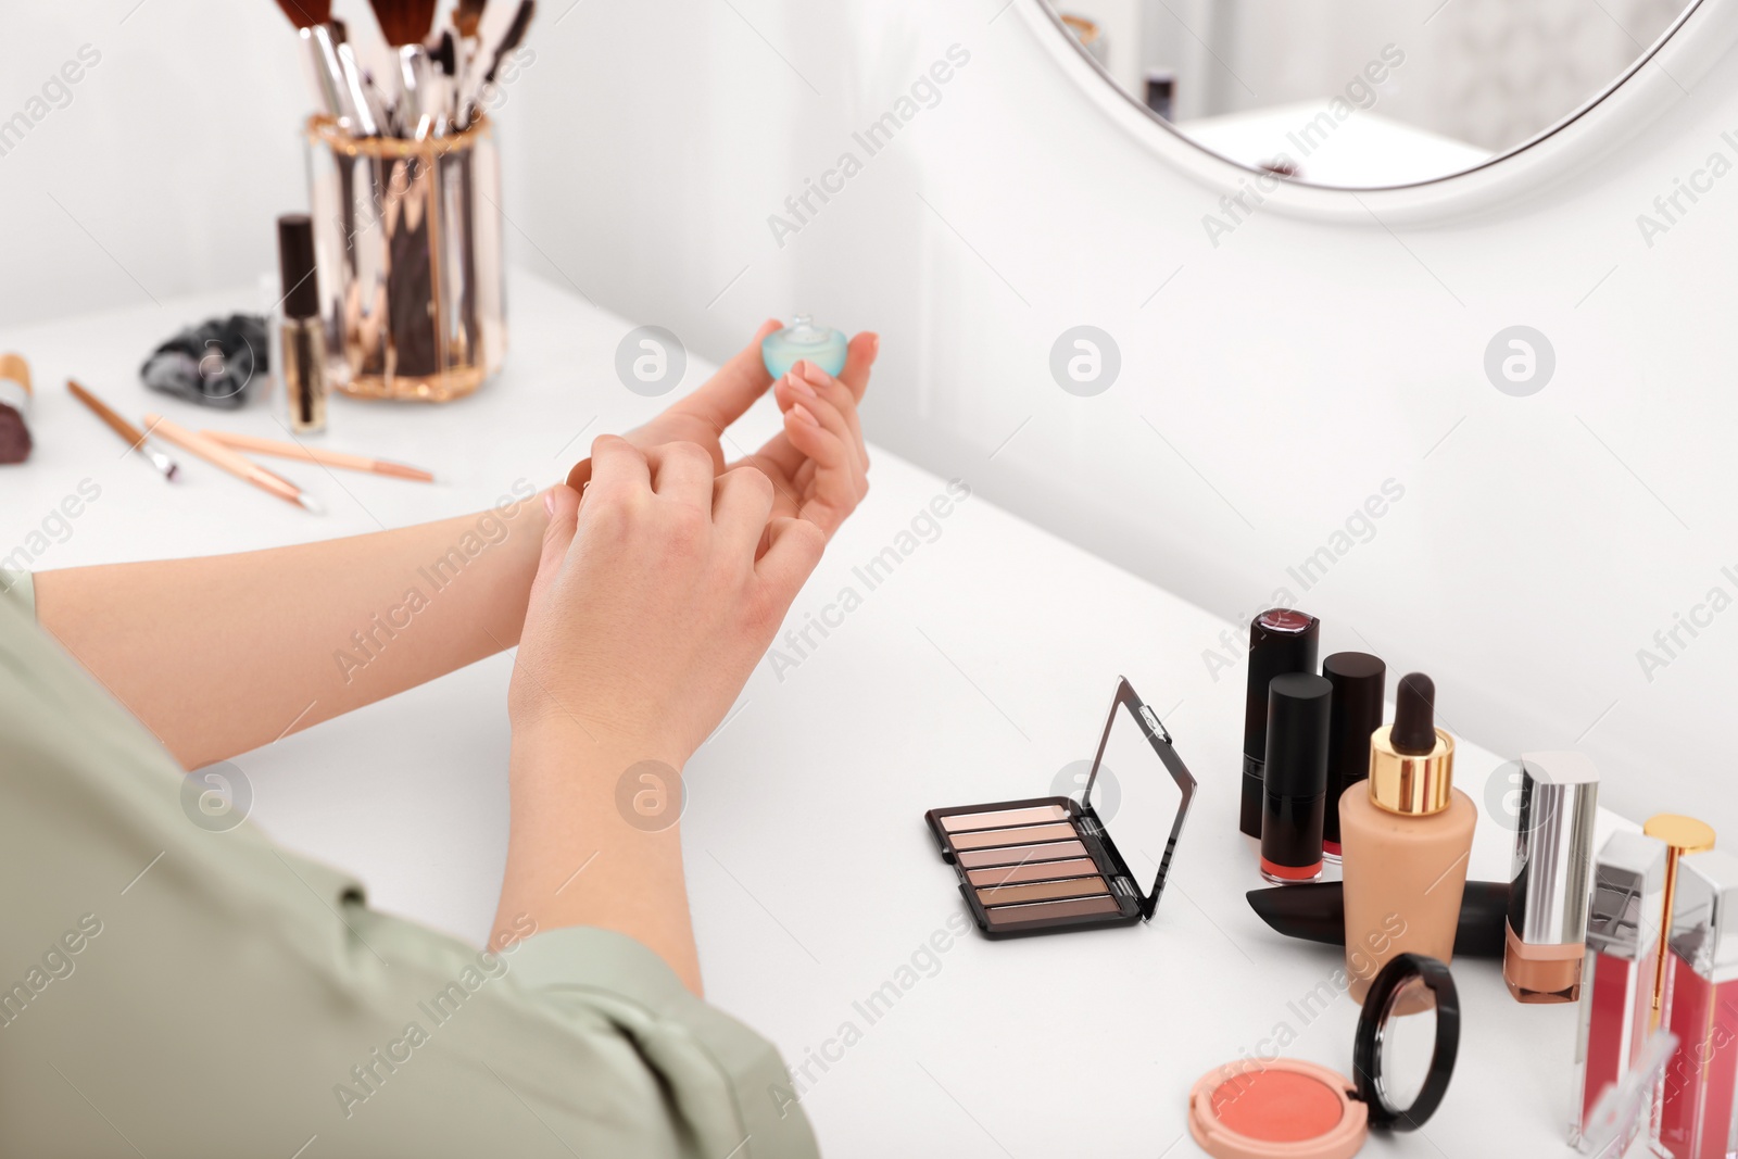
[(424, 141), (309, 118), (308, 186), (334, 387), (443, 403), (501, 370), (501, 153), (487, 118)]

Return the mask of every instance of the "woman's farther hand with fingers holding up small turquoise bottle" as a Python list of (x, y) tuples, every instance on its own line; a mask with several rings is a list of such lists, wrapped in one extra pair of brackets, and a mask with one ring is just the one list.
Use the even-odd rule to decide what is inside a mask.
[[(626, 438), (641, 450), (671, 441), (695, 443), (707, 452), (716, 471), (758, 467), (773, 485), (772, 518), (801, 516), (831, 539), (869, 490), (869, 452), (857, 405), (869, 389), (869, 370), (881, 339), (876, 334), (853, 337), (838, 379), (812, 363), (798, 363), (773, 391), (784, 412), (784, 431), (753, 455), (740, 455), (726, 466), (730, 424), (773, 384), (760, 348), (779, 327), (777, 320), (763, 323), (754, 339), (704, 386)], [(582, 490), (589, 473), (591, 460), (577, 464), (568, 473), (568, 487)]]

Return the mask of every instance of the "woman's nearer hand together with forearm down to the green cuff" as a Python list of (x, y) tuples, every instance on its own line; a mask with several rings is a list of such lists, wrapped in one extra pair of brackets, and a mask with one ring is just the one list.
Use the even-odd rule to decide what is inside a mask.
[[(547, 492), (507, 697), (511, 831), (490, 944), (527, 921), (601, 926), (648, 945), (699, 994), (681, 766), (766, 652), (826, 535), (773, 518), (760, 471), (714, 480), (695, 443), (643, 452), (605, 436), (591, 457), (584, 506), (568, 487)], [(641, 792), (662, 803), (652, 815)]]

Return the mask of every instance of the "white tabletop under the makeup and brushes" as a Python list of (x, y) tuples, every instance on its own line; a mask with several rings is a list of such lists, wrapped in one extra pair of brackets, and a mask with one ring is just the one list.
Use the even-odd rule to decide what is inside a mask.
[[(325, 445), (426, 466), (436, 485), (271, 464), (315, 492), (325, 516), (196, 460), (169, 487), (61, 386), (75, 375), (130, 415), (156, 408), (186, 426), (276, 434), (262, 407), (196, 408), (148, 394), (136, 374), (179, 325), (255, 297), (0, 330), (0, 349), (26, 354), (38, 386), (35, 459), (0, 469), (0, 551), (24, 544), (83, 478), (101, 497), (50, 539), (38, 570), (480, 509), (518, 478), (560, 478), (591, 434), (659, 407), (614, 375), (631, 325), (528, 275), (511, 285), (507, 370), (478, 396), (334, 401)], [(707, 370), (690, 361), (688, 384)], [(772, 426), (765, 405), (740, 441)], [(845, 587), (860, 606), (826, 638), (810, 632), (805, 655), (786, 645), (794, 667), (756, 667), (688, 768), (683, 820), (707, 994), (793, 1067), (826, 1062), (810, 1062), (801, 1084), (826, 1152), (1189, 1156), (1199, 1154), (1185, 1135), (1189, 1088), (1264, 1039), (1295, 1036), (1286, 1055), (1349, 1072), (1356, 1004), (1342, 996), (1314, 1020), (1298, 1013), (1340, 952), (1281, 938), (1243, 898), (1264, 884), (1236, 822), (1243, 669), (1215, 681), (1203, 662), (1227, 624), (982, 499), (939, 520), (928, 542), (900, 539), (945, 481), (886, 452), (872, 459), (869, 500), (787, 627), (819, 619)], [(970, 481), (972, 464), (958, 474)], [(876, 587), (853, 572), (912, 542)], [(1326, 631), (1324, 652), (1337, 646)], [(511, 657), (495, 657), (240, 758), (252, 820), (358, 874), (375, 905), (480, 942), (506, 855), (509, 671)], [(1163, 714), (1201, 782), (1154, 921), (1012, 942), (968, 933), (930, 966), (919, 950), (963, 904), (923, 811), (1051, 792), (1062, 766), (1091, 756), (1118, 674)], [(1462, 742), (1460, 784), (1481, 806), (1500, 763)], [(1507, 838), (1481, 822), (1472, 878), (1507, 878)], [(919, 970), (902, 970), (914, 956)], [(1448, 1098), (1425, 1138), (1373, 1138), (1366, 1154), (1557, 1154), (1575, 1010), (1516, 1004), (1498, 963), (1456, 963), (1455, 977), (1463, 1039)], [(886, 982), (909, 987), (871, 1022), (857, 1003)]]

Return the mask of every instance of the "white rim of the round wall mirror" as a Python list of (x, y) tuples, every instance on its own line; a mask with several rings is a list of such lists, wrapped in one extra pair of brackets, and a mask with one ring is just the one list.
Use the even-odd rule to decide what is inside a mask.
[[(1027, 28), (1076, 87), (1126, 132), (1215, 191), (1236, 193), (1265, 176), (1192, 141), (1124, 92), (1081, 45), (1048, 0), (1010, 0)], [(1284, 181), (1262, 196), (1302, 217), (1380, 224), (1443, 221), (1512, 202), (1582, 172), (1662, 113), (1738, 43), (1738, 0), (1688, 0), (1677, 19), (1606, 89), (1568, 116), (1472, 169), (1392, 186), (1328, 186)], [(1651, 66), (1651, 68), (1649, 68)], [(1158, 132), (1154, 132), (1158, 129)]]

